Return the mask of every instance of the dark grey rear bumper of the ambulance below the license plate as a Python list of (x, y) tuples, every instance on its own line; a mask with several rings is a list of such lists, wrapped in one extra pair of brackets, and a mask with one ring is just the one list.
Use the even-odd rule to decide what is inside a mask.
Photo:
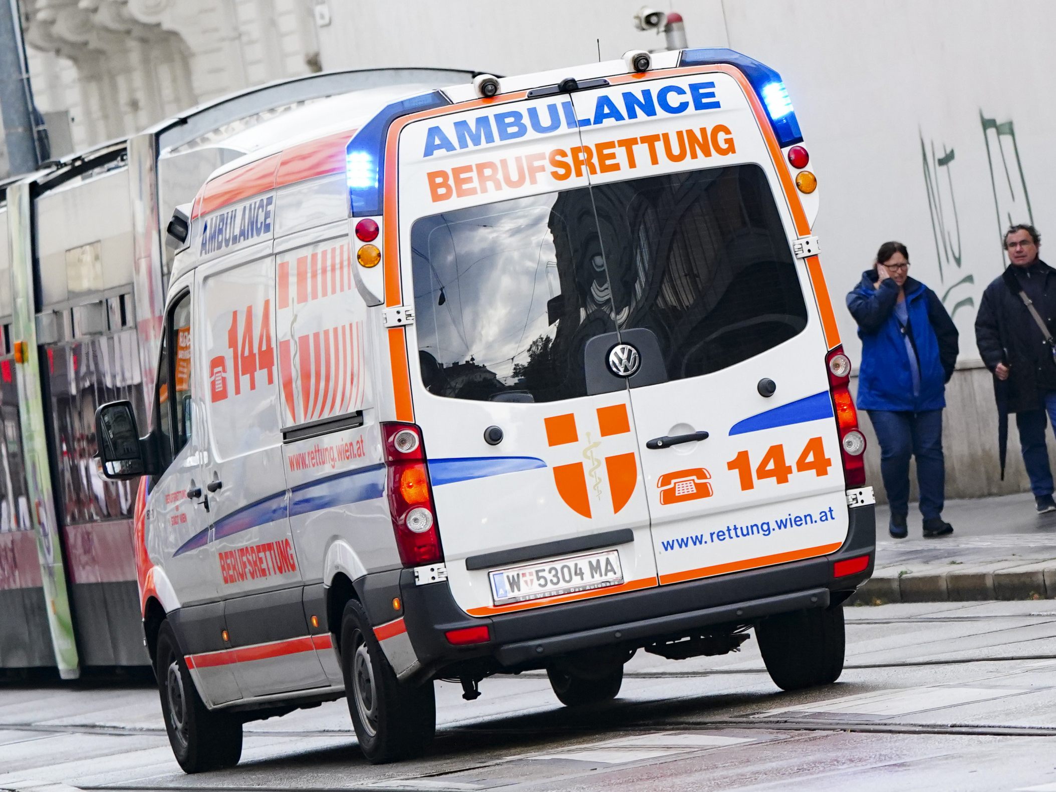
[[(418, 660), (411, 676), (425, 679), (459, 665), (493, 671), (540, 667), (582, 649), (635, 648), (714, 625), (747, 624), (843, 602), (869, 579), (875, 558), (874, 507), (848, 511), (847, 541), (829, 555), (488, 618), (461, 610), (447, 583), (418, 586), (413, 571), (403, 570), (403, 621)], [(869, 564), (864, 570), (833, 577), (835, 562), (866, 553)], [(445, 636), (482, 624), (490, 628), (488, 643), (453, 646)]]

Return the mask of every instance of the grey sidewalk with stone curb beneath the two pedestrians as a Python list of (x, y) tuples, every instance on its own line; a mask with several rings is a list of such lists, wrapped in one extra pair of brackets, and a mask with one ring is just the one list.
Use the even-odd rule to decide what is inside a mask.
[(894, 540), (878, 506), (875, 569), (848, 604), (1056, 599), (1056, 512), (1037, 514), (1031, 493), (947, 501), (942, 516), (954, 533), (924, 539), (910, 504)]

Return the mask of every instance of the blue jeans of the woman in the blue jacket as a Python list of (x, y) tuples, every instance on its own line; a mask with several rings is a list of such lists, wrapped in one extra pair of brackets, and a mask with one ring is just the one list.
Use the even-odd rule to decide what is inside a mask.
[(868, 412), (880, 440), (880, 472), (884, 478), (891, 513), (905, 515), (909, 512), (909, 457), (916, 456), (921, 514), (925, 520), (941, 516), (946, 489), (946, 465), (942, 456), (942, 410), (922, 413), (889, 410)]

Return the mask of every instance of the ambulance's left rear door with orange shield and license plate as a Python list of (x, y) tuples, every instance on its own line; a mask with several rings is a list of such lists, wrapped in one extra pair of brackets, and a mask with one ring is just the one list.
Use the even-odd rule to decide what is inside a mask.
[(598, 385), (619, 331), (590, 193), (547, 163), (579, 145), (564, 101), (400, 138), (413, 415), (448, 582), (473, 616), (657, 585), (628, 392)]

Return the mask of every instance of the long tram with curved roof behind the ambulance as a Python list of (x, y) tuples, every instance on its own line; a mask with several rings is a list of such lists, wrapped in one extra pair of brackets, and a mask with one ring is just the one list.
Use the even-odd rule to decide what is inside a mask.
[[(332, 72), (200, 106), (0, 183), (0, 674), (147, 666), (135, 482), (99, 472), (94, 415), (146, 425), (172, 251), (165, 227), (218, 167), (372, 91), (476, 73)], [(354, 115), (353, 115), (354, 117)]]

